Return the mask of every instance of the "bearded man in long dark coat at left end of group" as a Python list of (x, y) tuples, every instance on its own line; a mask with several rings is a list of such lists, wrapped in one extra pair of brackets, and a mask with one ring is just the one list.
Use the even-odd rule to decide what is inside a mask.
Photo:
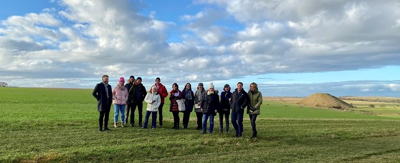
[(97, 99), (98, 117), (98, 131), (103, 131), (103, 118), (104, 118), (104, 131), (111, 131), (108, 128), (108, 121), (110, 115), (111, 104), (113, 100), (113, 92), (111, 85), (108, 84), (109, 76), (103, 75), (102, 82), (96, 84), (93, 89), (93, 97)]

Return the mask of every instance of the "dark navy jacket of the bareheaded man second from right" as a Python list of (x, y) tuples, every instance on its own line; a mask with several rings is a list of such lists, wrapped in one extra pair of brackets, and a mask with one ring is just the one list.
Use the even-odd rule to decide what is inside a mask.
[(234, 92), (232, 92), (232, 97), (229, 102), (230, 107), (232, 108), (232, 112), (244, 113), (244, 108), (246, 108), (248, 104), (248, 95), (242, 89), (240, 92), (237, 92), (237, 88)]

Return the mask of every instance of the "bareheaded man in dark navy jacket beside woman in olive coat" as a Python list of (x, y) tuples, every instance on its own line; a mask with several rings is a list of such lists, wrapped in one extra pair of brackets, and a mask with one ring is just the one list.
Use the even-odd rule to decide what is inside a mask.
[(231, 121), (232, 126), (236, 131), (235, 137), (241, 137), (243, 133), (244, 108), (248, 104), (248, 95), (247, 92), (243, 90), (242, 82), (237, 83), (237, 88), (232, 92), (232, 97), (229, 103), (232, 108)]

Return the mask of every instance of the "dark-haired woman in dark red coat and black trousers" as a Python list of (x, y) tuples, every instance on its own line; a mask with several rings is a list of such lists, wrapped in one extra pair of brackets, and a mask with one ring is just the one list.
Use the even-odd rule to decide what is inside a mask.
[(170, 112), (174, 116), (174, 127), (172, 129), (179, 130), (179, 106), (178, 99), (182, 99), (182, 92), (179, 90), (178, 84), (172, 84), (172, 90), (170, 92)]

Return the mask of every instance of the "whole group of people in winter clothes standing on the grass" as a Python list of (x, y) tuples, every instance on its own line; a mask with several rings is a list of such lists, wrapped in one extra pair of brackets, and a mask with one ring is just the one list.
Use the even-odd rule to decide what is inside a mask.
[[(168, 93), (166, 87), (161, 84), (161, 79), (156, 78), (156, 83), (147, 92), (143, 86), (142, 79), (130, 76), (128, 83), (120, 77), (116, 87), (112, 88), (108, 84), (109, 76), (103, 75), (102, 82), (96, 84), (92, 95), (97, 99), (98, 131), (111, 131), (108, 128), (111, 105), (114, 103), (114, 127), (118, 126), (118, 118), (121, 117), (121, 127), (125, 127), (130, 122), (131, 127), (135, 126), (135, 110), (138, 110), (138, 126), (147, 129), (148, 119), (152, 115), (151, 128), (157, 127), (157, 114), (159, 114), (159, 126), (163, 127), (163, 106), (165, 98), (169, 95), (169, 111), (172, 112), (174, 125), (172, 129), (180, 129), (179, 113), (183, 112), (183, 129), (188, 129), (190, 113), (196, 113), (196, 130), (202, 130), (201, 134), (207, 133), (207, 122), (210, 122), (208, 133), (212, 134), (214, 129), (214, 116), (219, 114), (220, 133), (229, 133), (229, 122), (236, 132), (235, 137), (241, 137), (243, 133), (244, 111), (249, 115), (252, 124), (253, 135), (251, 139), (257, 137), (256, 120), (260, 115), (263, 96), (258, 90), (256, 83), (251, 83), (249, 91), (243, 90), (243, 83), (238, 82), (237, 88), (231, 92), (229, 84), (225, 84), (223, 91), (215, 89), (214, 84), (210, 83), (208, 89), (204, 88), (203, 83), (198, 83), (197, 89), (193, 92), (190, 83), (186, 83), (182, 90), (179, 90), (177, 83), (172, 84), (172, 90)], [(124, 85), (125, 84), (125, 85)], [(147, 103), (144, 123), (142, 124), (143, 101)], [(126, 114), (125, 114), (126, 106)], [(232, 111), (231, 111), (232, 110)], [(229, 121), (229, 115), (231, 121)], [(129, 119), (130, 116), (130, 119)], [(129, 119), (129, 121), (128, 121)], [(224, 120), (225, 119), (225, 128)], [(104, 124), (104, 128), (103, 128)]]

